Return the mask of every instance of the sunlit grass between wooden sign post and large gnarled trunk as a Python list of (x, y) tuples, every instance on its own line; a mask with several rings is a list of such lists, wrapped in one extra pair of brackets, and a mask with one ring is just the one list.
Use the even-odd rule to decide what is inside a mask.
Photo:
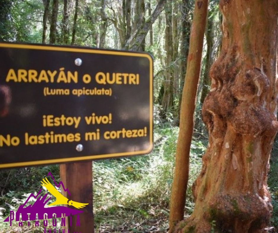
[[(178, 127), (160, 124), (154, 132), (156, 143), (150, 155), (94, 162), (96, 232), (117, 232), (127, 225), (133, 226), (127, 229), (130, 232), (144, 232), (159, 220), (164, 221), (159, 230), (166, 231), (177, 135)], [(198, 153), (204, 150), (201, 141), (193, 143), (191, 184), (201, 167)], [(188, 194), (190, 212), (193, 208), (190, 189)]]

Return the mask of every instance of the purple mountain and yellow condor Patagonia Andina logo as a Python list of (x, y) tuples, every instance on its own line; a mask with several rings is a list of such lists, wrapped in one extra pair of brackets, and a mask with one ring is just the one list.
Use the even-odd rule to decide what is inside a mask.
[[(54, 185), (64, 190), (64, 192), (67, 192), (70, 195), (70, 191), (68, 189), (65, 189), (63, 182), (61, 181), (58, 185), (52, 176), (51, 172), (47, 174), (50, 176), (54, 182)], [(28, 221), (28, 226), (30, 226), (30, 221), (35, 221), (35, 226), (39, 226), (38, 220), (44, 220), (43, 226), (45, 227), (44, 232), (49, 232), (50, 230), (46, 229), (46, 227), (56, 227), (57, 224), (57, 218), (61, 218), (61, 226), (65, 226), (66, 224), (66, 217), (67, 216), (74, 216), (77, 215), (77, 226), (79, 224), (80, 226), (80, 218), (79, 214), (83, 213), (81, 210), (76, 210), (70, 207), (66, 206), (54, 206), (54, 207), (48, 207), (53, 205), (69, 205), (73, 206), (77, 209), (84, 208), (88, 203), (79, 203), (73, 200), (69, 200), (68, 198), (64, 197), (45, 177), (43, 181), (41, 181), (41, 186), (45, 187), (55, 198), (56, 200), (54, 203), (51, 203), (49, 205), (46, 205), (51, 197), (47, 198), (48, 193), (45, 195), (41, 195), (41, 192), (43, 189), (40, 189), (38, 194), (35, 195), (33, 193), (30, 194), (30, 196), (27, 198), (25, 203), (23, 205), (20, 205), (15, 213), (15, 221), (18, 221), (18, 226), (23, 226), (23, 221)], [(35, 203), (34, 204), (28, 204), (28, 201), (34, 198)], [(32, 199), (31, 199), (32, 200)], [(51, 226), (48, 224), (48, 219), (52, 219)], [(4, 222), (9, 222), (10, 226), (12, 226), (12, 221), (14, 220), (14, 211), (10, 211), (10, 216), (7, 217)], [(71, 221), (70, 221), (71, 222)], [(60, 232), (60, 229), (55, 229), (54, 232)], [(64, 229), (61, 232), (65, 232)]]

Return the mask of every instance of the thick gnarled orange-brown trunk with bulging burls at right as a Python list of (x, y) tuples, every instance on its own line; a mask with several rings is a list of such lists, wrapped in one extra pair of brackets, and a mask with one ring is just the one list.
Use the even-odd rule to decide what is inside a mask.
[(220, 1), (222, 52), (202, 114), (209, 131), (195, 209), (183, 232), (265, 232), (266, 179), (277, 132), (278, 1)]

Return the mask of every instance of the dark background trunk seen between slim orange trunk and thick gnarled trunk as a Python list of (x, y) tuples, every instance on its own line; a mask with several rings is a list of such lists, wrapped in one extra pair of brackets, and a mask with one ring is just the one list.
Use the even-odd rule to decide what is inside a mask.
[(206, 29), (206, 64), (205, 64), (205, 70), (203, 75), (203, 88), (201, 93), (201, 103), (203, 104), (205, 97), (207, 96), (209, 92), (209, 86), (210, 86), (210, 79), (209, 79), (209, 69), (211, 67), (211, 59), (212, 59), (212, 47), (213, 47), (213, 20), (210, 17), (210, 14), (208, 14), (208, 20), (207, 20), (207, 29)]

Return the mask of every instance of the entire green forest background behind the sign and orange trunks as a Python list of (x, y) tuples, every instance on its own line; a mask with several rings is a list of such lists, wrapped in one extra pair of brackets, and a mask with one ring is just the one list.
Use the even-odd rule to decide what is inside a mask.
[[(180, 102), (192, 25), (192, 0), (0, 0), (0, 41), (146, 51), (154, 58), (154, 149), (146, 156), (93, 162), (95, 232), (166, 232), (174, 171)], [(209, 3), (190, 152), (189, 187), (201, 170), (208, 133), (201, 107), (210, 89), (209, 68), (221, 50), (218, 0)], [(274, 143), (268, 185), (278, 229), (278, 142)], [(0, 171), (0, 232), (49, 171), (59, 165)], [(194, 208), (187, 190), (186, 213)], [(214, 222), (211, 222), (213, 229)]]

